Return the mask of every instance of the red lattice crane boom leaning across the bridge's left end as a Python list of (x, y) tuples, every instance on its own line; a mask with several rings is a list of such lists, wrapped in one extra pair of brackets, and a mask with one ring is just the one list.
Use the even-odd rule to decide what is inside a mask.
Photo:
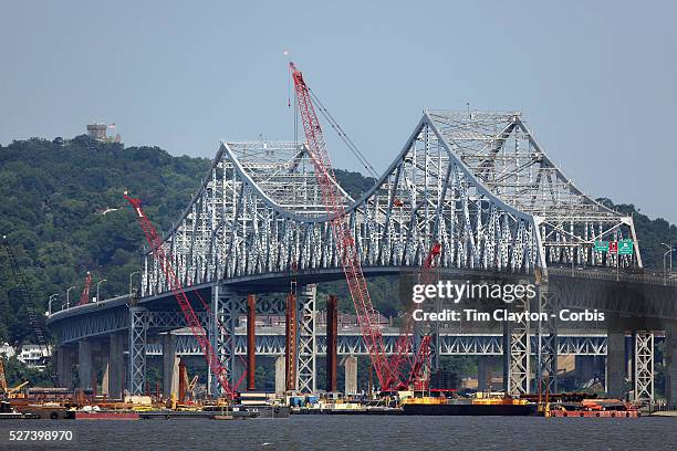
[(211, 343), (209, 342), (209, 338), (207, 337), (207, 334), (205, 333), (205, 328), (200, 324), (200, 321), (198, 319), (197, 315), (195, 314), (195, 311), (192, 310), (192, 306), (190, 305), (190, 301), (188, 301), (188, 297), (184, 292), (181, 283), (178, 276), (176, 275), (176, 271), (171, 265), (173, 259), (170, 251), (165, 250), (163, 245), (163, 239), (158, 235), (157, 230), (155, 230), (155, 227), (142, 210), (140, 199), (131, 198), (129, 196), (127, 196), (127, 191), (125, 191), (124, 196), (125, 199), (129, 202), (129, 204), (132, 204), (132, 208), (134, 208), (136, 219), (138, 220), (138, 223), (142, 230), (144, 231), (146, 240), (148, 241), (150, 252), (157, 261), (160, 270), (165, 274), (167, 284), (169, 285), (171, 293), (176, 297), (176, 301), (181, 312), (184, 313), (186, 323), (190, 327), (190, 332), (200, 345), (200, 349), (205, 354), (207, 364), (211, 368), (213, 375), (219, 381), (219, 385), (223, 389), (226, 397), (229, 399), (235, 399), (237, 394), (228, 381), (228, 371), (219, 360), (219, 357), (217, 356), (213, 347), (211, 346)]

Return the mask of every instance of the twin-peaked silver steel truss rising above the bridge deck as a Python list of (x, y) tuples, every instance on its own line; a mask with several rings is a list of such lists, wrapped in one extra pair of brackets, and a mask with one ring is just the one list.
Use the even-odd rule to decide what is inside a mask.
[[(294, 143), (223, 143), (183, 218), (165, 237), (184, 285), (341, 268), (308, 149)], [(582, 193), (548, 158), (520, 113), (426, 111), (403, 150), (360, 199), (344, 196), (364, 268), (420, 266), (434, 242), (439, 264), (522, 273), (538, 269), (548, 300), (553, 265), (642, 265), (632, 218)], [(634, 255), (594, 251), (596, 240), (634, 240)], [(142, 295), (168, 291), (146, 258)], [(524, 308), (531, 308), (525, 305)], [(529, 391), (529, 324), (514, 327), (521, 349), (510, 391)], [(539, 376), (556, 374), (556, 331)], [(522, 347), (517, 346), (524, 343)]]

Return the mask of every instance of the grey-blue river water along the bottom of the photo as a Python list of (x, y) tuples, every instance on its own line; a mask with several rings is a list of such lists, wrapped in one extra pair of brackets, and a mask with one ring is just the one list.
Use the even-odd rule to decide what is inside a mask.
[[(10, 442), (10, 429), (70, 430)], [(2, 421), (1, 450), (677, 450), (677, 418), (292, 416), (275, 420)]]

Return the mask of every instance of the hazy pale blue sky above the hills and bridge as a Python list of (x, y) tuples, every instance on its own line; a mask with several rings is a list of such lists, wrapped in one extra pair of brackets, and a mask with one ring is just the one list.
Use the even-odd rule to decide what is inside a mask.
[(583, 191), (677, 222), (677, 2), (94, 3), (1, 1), (0, 143), (93, 120), (174, 155), (291, 139), (289, 49), (379, 171), (424, 107), (521, 109)]

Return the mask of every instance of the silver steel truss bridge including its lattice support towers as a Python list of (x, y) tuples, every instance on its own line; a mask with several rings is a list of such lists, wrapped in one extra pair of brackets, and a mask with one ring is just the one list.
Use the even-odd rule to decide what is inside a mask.
[[(614, 277), (627, 286), (654, 283), (627, 274), (642, 268), (633, 219), (577, 189), (546, 156), (519, 112), (425, 111), (372, 189), (358, 199), (338, 189), (344, 193), (366, 275), (416, 270), (431, 244), (439, 242), (440, 271), (448, 274), (534, 282), (537, 301), (515, 302), (514, 308), (550, 313), (562, 305), (583, 308), (603, 304), (618, 315), (647, 314), (640, 312), (645, 304), (637, 302), (637, 296), (623, 301), (628, 295), (614, 292), (615, 297), (608, 298), (604, 290)], [(316, 388), (315, 357), (322, 342), (315, 331), (314, 284), (342, 277), (325, 211), (303, 144), (225, 141), (198, 192), (166, 233), (163, 245), (173, 255), (185, 290), (194, 301), (195, 293), (208, 297), (211, 315), (201, 314), (204, 324), (229, 368), (241, 352), (242, 344), (228, 337), (237, 337), (237, 318), (244, 310), (246, 294), (257, 293), (263, 298), (284, 293), (293, 269), (301, 287), (298, 387), (302, 391)], [(621, 239), (634, 242), (634, 254), (595, 252), (595, 241)], [(579, 292), (571, 286), (592, 289)], [(677, 318), (674, 286), (666, 290), (650, 304), (649, 316), (671, 321)], [(149, 253), (144, 259), (139, 292), (138, 303), (131, 307), (112, 300), (102, 303), (103, 308), (74, 307), (50, 318), (64, 343), (87, 335), (83, 334), (86, 327), (101, 329), (106, 327), (103, 323), (118, 321), (118, 326), (129, 332), (129, 377), (135, 392), (144, 389), (145, 356), (150, 349), (146, 334), (154, 328), (153, 318), (162, 312), (179, 315), (166, 313), (171, 310), (167, 307), (171, 294)], [(275, 312), (271, 303), (258, 308)], [(654, 331), (631, 332), (638, 346), (635, 395), (653, 399)], [(567, 339), (558, 335), (555, 322), (524, 321), (506, 329), (503, 337), (500, 352), (507, 354), (506, 389), (529, 392), (535, 374), (537, 378), (550, 375), (548, 380), (554, 390), (556, 355), (570, 349), (569, 345), (562, 348)], [(264, 340), (261, 338), (262, 349)], [(466, 342), (446, 345), (445, 338), (434, 343), (437, 356), (454, 354), (450, 349), (472, 348)], [(343, 346), (351, 348), (347, 342)], [(498, 352), (499, 347), (492, 349)]]

